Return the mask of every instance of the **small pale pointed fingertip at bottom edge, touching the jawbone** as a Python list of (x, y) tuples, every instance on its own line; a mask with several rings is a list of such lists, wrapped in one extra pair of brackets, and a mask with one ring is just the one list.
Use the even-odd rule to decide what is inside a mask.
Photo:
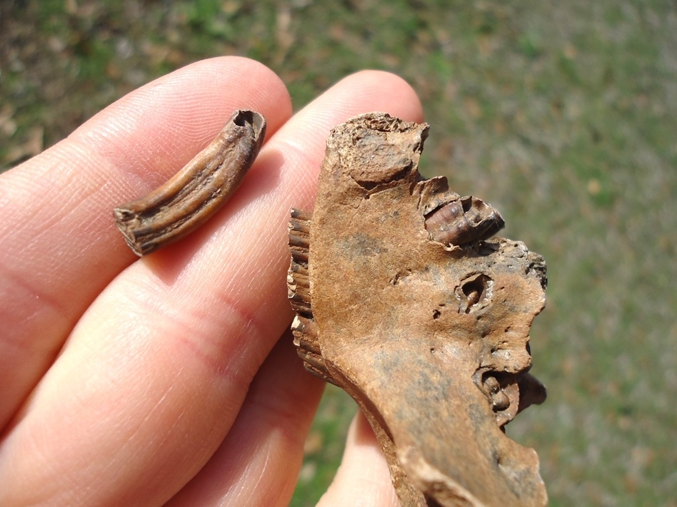
[(361, 412), (356, 414), (346, 440), (339, 471), (318, 507), (399, 507), (388, 464), (376, 436)]

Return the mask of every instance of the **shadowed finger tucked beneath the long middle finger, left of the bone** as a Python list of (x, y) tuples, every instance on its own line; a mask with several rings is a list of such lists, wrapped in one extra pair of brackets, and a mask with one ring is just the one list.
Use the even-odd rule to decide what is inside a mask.
[(167, 507), (289, 505), (323, 388), (305, 371), (291, 333), (285, 333), (223, 444)]

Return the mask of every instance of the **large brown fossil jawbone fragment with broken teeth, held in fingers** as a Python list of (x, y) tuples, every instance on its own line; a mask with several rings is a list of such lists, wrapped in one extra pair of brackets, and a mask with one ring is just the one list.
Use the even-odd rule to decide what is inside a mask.
[(546, 266), (421, 178), (427, 133), (385, 113), (332, 130), (314, 212), (289, 223), (294, 341), (361, 406), (404, 507), (542, 506), (538, 456), (503, 426), (546, 396), (528, 374)]

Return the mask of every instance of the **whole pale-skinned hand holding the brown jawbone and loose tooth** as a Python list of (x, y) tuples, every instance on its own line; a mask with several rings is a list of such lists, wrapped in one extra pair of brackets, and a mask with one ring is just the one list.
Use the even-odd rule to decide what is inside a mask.
[[(239, 108), (268, 121), (234, 198), (139, 260), (111, 210), (156, 188)], [(292, 116), (246, 58), (194, 63), (0, 175), (0, 505), (286, 506), (323, 384), (286, 331), (289, 209), (311, 210), (329, 130), (421, 121), (400, 78), (348, 76)], [(397, 506), (353, 420), (329, 506)]]

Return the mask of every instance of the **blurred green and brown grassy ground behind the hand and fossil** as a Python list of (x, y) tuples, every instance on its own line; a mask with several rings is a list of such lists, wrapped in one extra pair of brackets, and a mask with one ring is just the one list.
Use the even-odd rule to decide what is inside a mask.
[[(431, 123), (423, 173), (501, 210), (548, 262), (508, 434), (553, 506), (677, 506), (677, 4), (673, 0), (2, 0), (0, 163), (200, 58), (274, 69), (298, 110), (361, 68)], [(334, 475), (354, 405), (328, 389), (292, 505)]]

